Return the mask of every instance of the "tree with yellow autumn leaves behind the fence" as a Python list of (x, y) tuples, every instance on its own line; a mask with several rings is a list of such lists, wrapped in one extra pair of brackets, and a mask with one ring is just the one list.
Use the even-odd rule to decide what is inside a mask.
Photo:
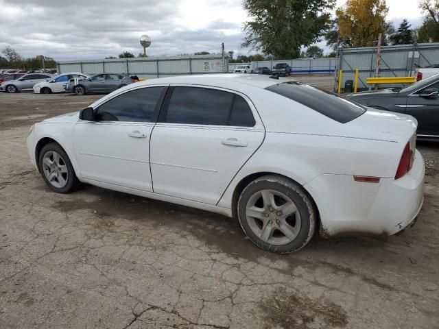
[(380, 33), (385, 36), (387, 13), (385, 0), (347, 0), (335, 11), (341, 40), (349, 40), (352, 47), (375, 45)]

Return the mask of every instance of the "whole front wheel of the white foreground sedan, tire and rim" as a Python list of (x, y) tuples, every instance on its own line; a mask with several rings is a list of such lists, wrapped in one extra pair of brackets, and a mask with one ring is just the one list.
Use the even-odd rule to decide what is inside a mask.
[(41, 149), (38, 163), (43, 179), (53, 191), (69, 193), (78, 187), (69, 156), (57, 143), (49, 143)]

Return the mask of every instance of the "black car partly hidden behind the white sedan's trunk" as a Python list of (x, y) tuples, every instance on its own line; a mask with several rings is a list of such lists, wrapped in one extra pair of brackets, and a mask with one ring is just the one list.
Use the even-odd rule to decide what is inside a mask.
[(346, 98), (370, 108), (410, 114), (418, 120), (418, 139), (439, 139), (439, 74), (401, 90), (366, 91)]

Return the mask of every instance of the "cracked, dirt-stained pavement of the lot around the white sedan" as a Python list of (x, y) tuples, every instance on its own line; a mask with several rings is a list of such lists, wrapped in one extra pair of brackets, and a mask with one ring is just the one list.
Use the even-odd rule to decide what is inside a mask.
[(439, 143), (418, 143), (416, 226), (277, 255), (221, 215), (50, 191), (29, 163), (30, 125), (99, 97), (0, 95), (0, 328), (439, 328)]

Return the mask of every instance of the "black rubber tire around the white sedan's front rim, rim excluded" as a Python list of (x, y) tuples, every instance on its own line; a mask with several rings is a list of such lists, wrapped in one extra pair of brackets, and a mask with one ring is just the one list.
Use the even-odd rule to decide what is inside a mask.
[[(45, 155), (53, 154), (54, 152), (60, 156), (60, 159), (62, 160), (62, 162), (60, 162), (67, 168), (67, 178), (65, 179), (67, 182), (64, 186), (54, 186), (54, 183), (49, 182), (46, 177), (47, 171), (45, 168), (48, 166), (43, 164), (43, 159), (45, 158)], [(76, 177), (75, 170), (71, 165), (69, 156), (67, 156), (66, 152), (64, 152), (64, 149), (62, 149), (58, 143), (49, 143), (45, 145), (43, 149), (41, 149), (40, 154), (38, 154), (38, 165), (40, 168), (40, 173), (43, 176), (43, 180), (46, 182), (47, 186), (49, 186), (49, 188), (56, 193), (70, 193), (78, 188), (80, 182)]]

